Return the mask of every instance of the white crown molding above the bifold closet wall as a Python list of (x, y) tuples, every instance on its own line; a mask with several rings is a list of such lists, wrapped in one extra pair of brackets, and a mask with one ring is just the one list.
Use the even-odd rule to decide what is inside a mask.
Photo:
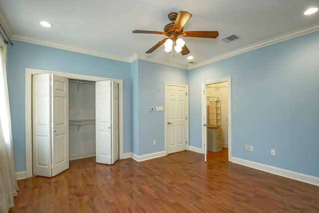
[(57, 48), (57, 49), (68, 50), (68, 51), (72, 51), (72, 52), (79, 52), (79, 53), (98, 56), (98, 57), (102, 57), (102, 58), (108, 58), (108, 59), (117, 60), (117, 61), (130, 62), (128, 58), (113, 55), (110, 53), (104, 53), (104, 52), (98, 52), (98, 51), (93, 51), (93, 50), (89, 50), (89, 49), (82, 49), (82, 48), (73, 47), (73, 46), (56, 44), (56, 43), (52, 43), (52, 42), (48, 42), (48, 41), (24, 37), (24, 36), (15, 35), (15, 34), (13, 34), (11, 36), (11, 39), (17, 40), (17, 41), (23, 41), (23, 42), (27, 42), (27, 43), (38, 44), (38, 45), (42, 45), (42, 46), (49, 46), (49, 47), (53, 47), (53, 48)]

